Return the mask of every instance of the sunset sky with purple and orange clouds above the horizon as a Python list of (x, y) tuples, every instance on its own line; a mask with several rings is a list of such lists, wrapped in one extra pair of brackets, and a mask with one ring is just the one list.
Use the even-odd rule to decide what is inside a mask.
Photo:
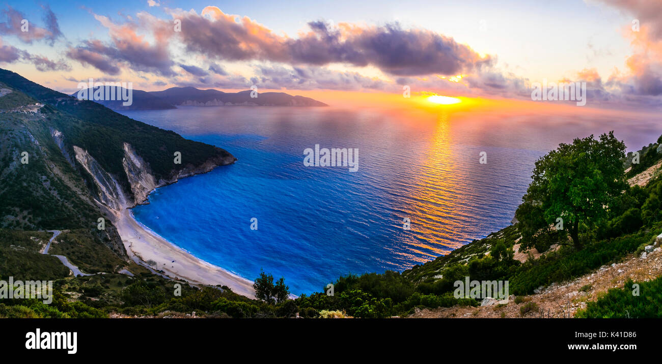
[(526, 100), (585, 82), (590, 106), (655, 110), (662, 0), (9, 1), (0, 67), (63, 92), (93, 78)]

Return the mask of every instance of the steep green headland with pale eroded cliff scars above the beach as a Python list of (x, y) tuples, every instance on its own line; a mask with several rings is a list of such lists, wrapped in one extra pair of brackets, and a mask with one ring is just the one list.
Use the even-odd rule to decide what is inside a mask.
[[(70, 246), (68, 255), (79, 266), (102, 272), (131, 266), (113, 211), (141, 203), (157, 186), (235, 161), (218, 147), (3, 69), (0, 95), (0, 256), (23, 262), (0, 266), (2, 277), (48, 266), (41, 261), (55, 262), (60, 274), (68, 275), (56, 258), (26, 248), (21, 238), (55, 229), (66, 232), (52, 250)], [(181, 164), (174, 163), (175, 152), (181, 153)], [(105, 229), (97, 229), (100, 217)]]

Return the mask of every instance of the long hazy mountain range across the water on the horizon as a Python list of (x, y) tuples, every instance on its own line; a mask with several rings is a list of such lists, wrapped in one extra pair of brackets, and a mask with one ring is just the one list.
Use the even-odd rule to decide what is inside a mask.
[[(109, 88), (117, 95), (115, 87)], [(94, 91), (87, 89), (89, 95)], [(120, 88), (120, 91), (124, 89)], [(164, 91), (133, 90), (131, 105), (122, 105), (122, 100), (100, 100), (113, 110), (164, 110), (176, 106), (328, 106), (309, 97), (292, 96), (284, 92), (262, 92), (251, 97), (250, 90), (240, 92), (222, 92), (218, 90), (200, 90), (195, 87), (172, 87)], [(77, 96), (78, 92), (71, 94)], [(116, 96), (117, 98), (117, 96)], [(89, 97), (92, 99), (92, 97)]]

